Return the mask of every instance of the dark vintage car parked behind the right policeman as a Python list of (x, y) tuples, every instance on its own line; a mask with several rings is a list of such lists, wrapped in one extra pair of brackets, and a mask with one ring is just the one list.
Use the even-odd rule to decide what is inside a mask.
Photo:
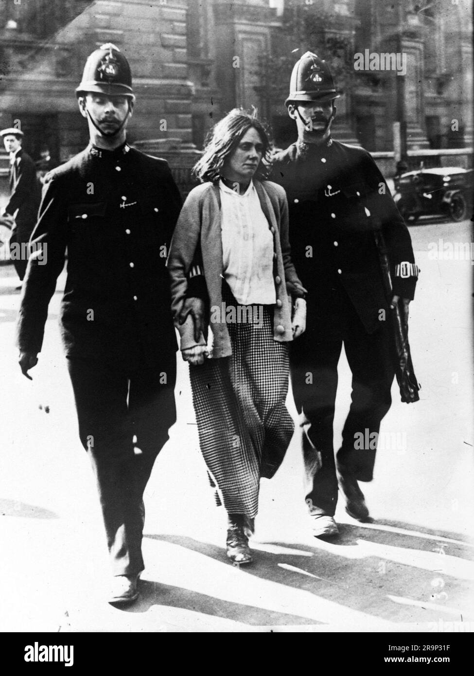
[(444, 215), (454, 221), (471, 217), (473, 170), (437, 167), (396, 176), (394, 199), (406, 222), (419, 216)]

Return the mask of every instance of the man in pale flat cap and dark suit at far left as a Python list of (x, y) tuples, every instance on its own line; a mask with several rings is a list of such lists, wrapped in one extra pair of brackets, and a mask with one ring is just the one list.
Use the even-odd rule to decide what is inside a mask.
[[(12, 252), (11, 259), (15, 270), (23, 281), (28, 264), (28, 249), (26, 245), (37, 222), (38, 208), (41, 200), (41, 191), (37, 180), (37, 172), (33, 160), (22, 149), (23, 132), (16, 127), (9, 127), (0, 131), (5, 150), (10, 155), (9, 187), (10, 199), (5, 207), (3, 216), (11, 222), (11, 245), (17, 245)], [(23, 246), (22, 246), (23, 245)], [(13, 255), (14, 254), (14, 255)], [(21, 285), (17, 287), (21, 289)]]

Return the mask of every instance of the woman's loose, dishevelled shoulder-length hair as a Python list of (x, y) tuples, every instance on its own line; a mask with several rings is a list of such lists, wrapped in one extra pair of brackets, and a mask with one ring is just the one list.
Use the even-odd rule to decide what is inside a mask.
[(201, 183), (210, 180), (216, 183), (220, 178), (220, 172), (225, 160), (239, 145), (243, 135), (251, 128), (256, 129), (263, 143), (262, 160), (254, 174), (255, 178), (264, 180), (268, 176), (268, 168), (264, 160), (268, 162), (270, 155), (270, 141), (266, 129), (257, 118), (254, 108), (248, 112), (243, 108), (234, 108), (208, 133), (204, 145), (204, 153), (193, 167), (193, 174)]

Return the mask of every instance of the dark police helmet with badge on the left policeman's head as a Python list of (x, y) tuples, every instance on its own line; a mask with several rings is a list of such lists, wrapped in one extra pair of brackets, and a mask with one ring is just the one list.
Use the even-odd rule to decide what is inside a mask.
[(130, 66), (120, 49), (112, 43), (101, 45), (87, 59), (76, 96), (88, 91), (134, 98)]

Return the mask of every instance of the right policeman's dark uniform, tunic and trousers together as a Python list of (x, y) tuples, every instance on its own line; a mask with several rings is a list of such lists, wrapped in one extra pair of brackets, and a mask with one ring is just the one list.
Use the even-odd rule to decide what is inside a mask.
[(304, 432), (306, 502), (313, 514), (333, 516), (333, 418), (342, 343), (352, 370), (352, 404), (337, 461), (359, 481), (371, 481), (375, 451), (355, 450), (354, 435), (365, 429), (378, 433), (391, 404), (389, 306), (374, 228), (381, 226), (385, 237), (394, 294), (413, 298), (417, 268), (404, 220), (362, 148), (332, 139), (322, 146), (298, 141), (276, 156), (271, 178), (287, 193), (291, 256), (308, 289), (306, 332), (290, 346)]

